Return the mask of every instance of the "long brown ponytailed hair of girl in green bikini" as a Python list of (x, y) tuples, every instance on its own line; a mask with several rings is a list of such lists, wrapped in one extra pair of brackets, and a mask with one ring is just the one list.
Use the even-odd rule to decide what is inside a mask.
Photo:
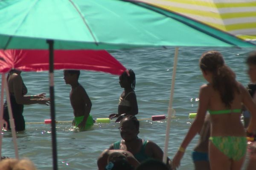
[(236, 74), (225, 64), (221, 53), (218, 51), (205, 52), (199, 60), (199, 66), (202, 71), (212, 73), (213, 89), (220, 93), (221, 101), (227, 108), (230, 108), (234, 92), (240, 93), (240, 91), (236, 82)]

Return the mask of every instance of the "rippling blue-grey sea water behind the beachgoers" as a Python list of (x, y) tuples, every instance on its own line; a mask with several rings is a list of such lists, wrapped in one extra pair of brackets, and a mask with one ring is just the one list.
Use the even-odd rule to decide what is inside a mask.
[[(237, 80), (247, 85), (247, 65), (245, 59), (252, 48), (180, 48), (173, 109), (175, 118), (171, 121), (168, 156), (173, 158), (186, 135), (193, 119), (189, 113), (195, 113), (198, 107), (198, 90), (206, 83), (198, 67), (198, 59), (208, 50), (220, 51), (233, 71)], [(164, 149), (166, 120), (152, 122), (151, 116), (167, 116), (172, 68), (175, 48), (137, 48), (109, 51), (126, 68), (136, 74), (135, 92), (139, 107), (139, 137), (157, 143)], [(28, 95), (47, 93), (49, 97), (48, 72), (22, 72), (23, 81), (28, 88)], [(63, 79), (63, 71), (55, 71), (55, 112), (56, 121), (72, 121), (73, 110), (70, 105), (70, 85)], [(119, 77), (102, 72), (81, 71), (79, 82), (87, 91), (92, 101), (91, 115), (107, 118), (117, 112), (119, 96), (123, 89)], [(23, 116), (27, 123), (44, 122), (50, 119), (50, 109), (46, 105), (25, 105)], [(148, 118), (148, 119), (147, 119)], [(78, 132), (71, 123), (57, 123), (58, 169), (60, 170), (96, 170), (97, 158), (113, 142), (121, 140), (119, 124), (98, 123), (92, 130)], [(186, 149), (179, 170), (192, 170), (191, 151), (198, 140), (196, 136)], [(20, 158), (31, 159), (39, 170), (52, 169), (51, 127), (49, 124), (26, 124), (26, 130), (17, 133)], [(3, 133), (2, 155), (15, 157), (12, 134)]]

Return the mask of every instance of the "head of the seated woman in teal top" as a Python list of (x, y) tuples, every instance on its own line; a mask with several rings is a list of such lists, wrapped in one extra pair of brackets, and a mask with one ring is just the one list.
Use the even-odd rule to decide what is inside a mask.
[(137, 139), (140, 133), (140, 122), (135, 116), (125, 116), (120, 122), (120, 135), (125, 141), (132, 141)]

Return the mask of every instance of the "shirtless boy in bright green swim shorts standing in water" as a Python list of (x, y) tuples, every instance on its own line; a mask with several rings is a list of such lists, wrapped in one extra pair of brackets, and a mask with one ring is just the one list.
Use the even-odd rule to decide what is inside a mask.
[(93, 118), (90, 116), (92, 103), (89, 96), (78, 82), (79, 70), (64, 70), (64, 80), (71, 85), (70, 103), (73, 108), (73, 125), (80, 130), (87, 130), (93, 126)]

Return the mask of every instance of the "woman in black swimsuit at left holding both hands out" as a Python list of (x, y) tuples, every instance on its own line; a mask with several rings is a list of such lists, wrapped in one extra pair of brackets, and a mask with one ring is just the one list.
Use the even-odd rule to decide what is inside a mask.
[[(22, 115), (23, 105), (31, 105), (36, 103), (48, 105), (50, 101), (49, 98), (45, 98), (45, 93), (34, 96), (25, 96), (27, 94), (27, 88), (22, 80), (22, 77), (20, 76), (20, 73), (21, 71), (11, 70), (7, 76), (12, 114), (16, 131), (25, 130), (25, 120)], [(5, 102), (3, 107), (3, 119), (8, 123), (7, 128), (10, 130), (7, 102)]]

